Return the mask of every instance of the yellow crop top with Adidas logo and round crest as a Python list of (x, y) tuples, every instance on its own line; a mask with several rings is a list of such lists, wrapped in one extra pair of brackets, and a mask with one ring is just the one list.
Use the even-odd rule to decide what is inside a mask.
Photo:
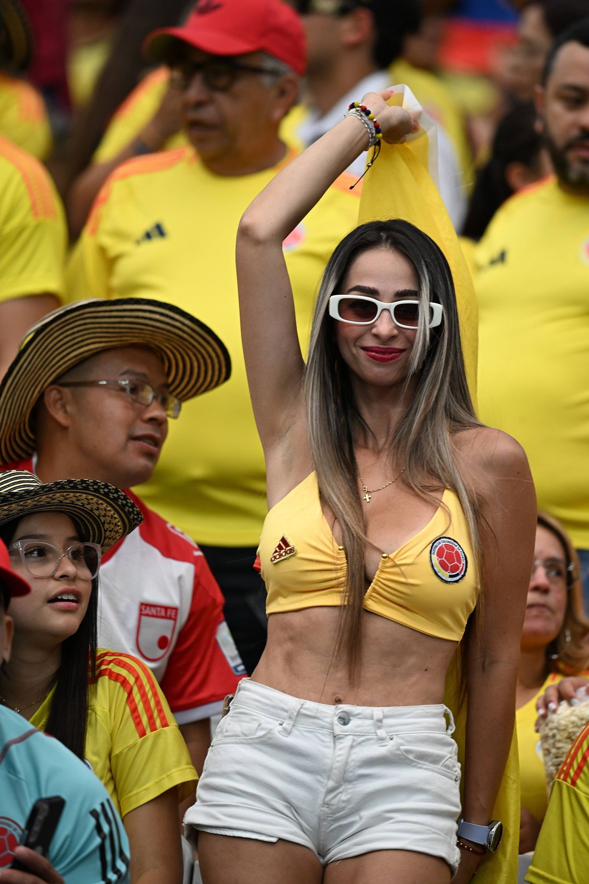
[[(428, 636), (460, 641), (479, 581), (468, 526), (457, 495), (446, 490), (425, 528), (396, 552), (382, 555), (364, 608)], [(268, 512), (258, 555), (267, 613), (339, 606), (344, 547), (321, 509), (314, 473)]]

